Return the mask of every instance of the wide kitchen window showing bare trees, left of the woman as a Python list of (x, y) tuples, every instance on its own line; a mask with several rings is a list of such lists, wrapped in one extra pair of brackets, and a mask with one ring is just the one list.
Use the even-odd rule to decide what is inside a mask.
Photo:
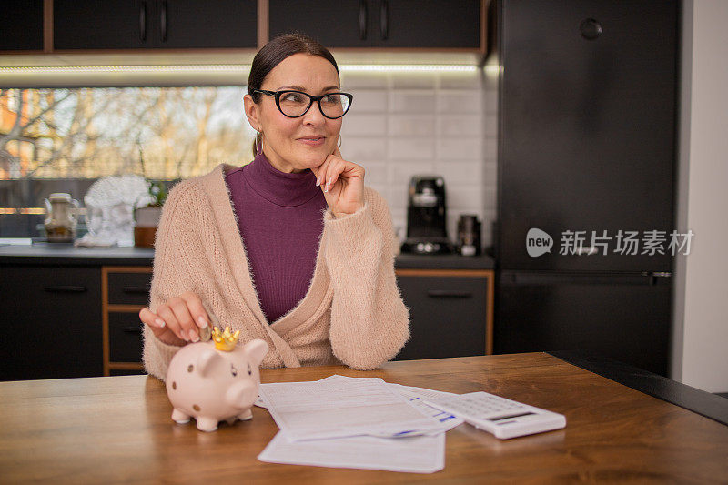
[[(43, 200), (99, 177), (176, 180), (252, 159), (245, 87), (0, 90), (0, 237), (42, 232)], [(83, 222), (83, 220), (81, 221)], [(79, 224), (82, 235), (83, 224)]]

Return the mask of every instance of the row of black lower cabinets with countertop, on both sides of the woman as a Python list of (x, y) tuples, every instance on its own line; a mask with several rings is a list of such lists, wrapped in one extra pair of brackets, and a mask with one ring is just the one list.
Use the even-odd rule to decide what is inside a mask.
[[(0, 380), (143, 373), (154, 250), (0, 247)], [(411, 339), (397, 359), (490, 354), (492, 259), (399, 255)], [(11, 331), (12, 330), (12, 331)]]

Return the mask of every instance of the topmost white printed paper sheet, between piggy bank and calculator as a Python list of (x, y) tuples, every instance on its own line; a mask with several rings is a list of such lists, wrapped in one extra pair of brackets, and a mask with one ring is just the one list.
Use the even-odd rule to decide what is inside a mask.
[(440, 419), (379, 378), (331, 376), (260, 385), (260, 398), (288, 440), (442, 431)]

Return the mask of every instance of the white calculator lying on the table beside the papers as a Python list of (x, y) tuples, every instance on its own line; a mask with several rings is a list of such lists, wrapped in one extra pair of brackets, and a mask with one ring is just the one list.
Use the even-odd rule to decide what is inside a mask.
[(562, 414), (534, 408), (487, 392), (424, 399), (433, 408), (449, 412), (478, 429), (506, 440), (566, 426)]

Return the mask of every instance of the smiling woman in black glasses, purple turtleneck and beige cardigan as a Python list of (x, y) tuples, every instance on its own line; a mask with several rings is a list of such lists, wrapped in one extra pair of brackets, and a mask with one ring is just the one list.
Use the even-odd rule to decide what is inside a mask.
[(263, 367), (375, 369), (410, 337), (394, 276), (389, 208), (341, 156), (339, 67), (306, 35), (253, 60), (244, 97), (258, 131), (245, 167), (221, 164), (177, 184), (163, 209), (145, 323), (147, 372), (210, 325), (268, 342)]

